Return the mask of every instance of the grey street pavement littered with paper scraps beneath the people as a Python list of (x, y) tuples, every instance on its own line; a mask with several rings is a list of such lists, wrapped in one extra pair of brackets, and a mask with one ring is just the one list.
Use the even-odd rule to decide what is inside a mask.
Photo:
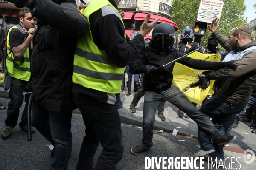
[[(132, 98), (132, 96), (130, 96)], [(129, 98), (130, 98), (129, 97)], [(122, 95), (123, 102), (127, 102), (128, 98), (126, 99), (124, 95)], [(0, 98), (0, 102), (3, 103), (3, 105), (8, 106), (9, 99), (3, 99)], [(18, 122), (20, 122), (21, 113), (24, 108), (24, 103), (20, 107), (20, 117)], [(178, 120), (173, 120), (176, 115), (171, 116), (172, 109), (170, 109), (170, 104), (167, 104), (167, 113), (165, 115), (168, 115), (168, 122), (171, 122), (172, 120), (172, 126), (179, 125), (177, 130), (183, 129), (186, 127), (186, 125), (182, 125), (183, 122), (189, 122), (188, 125), (193, 125), (193, 122), (191, 119), (180, 119), (180, 122), (178, 124), (175, 124), (173, 122), (178, 122)], [(127, 110), (127, 106), (124, 105), (123, 109)], [(175, 109), (175, 108), (173, 108)], [(140, 112), (142, 111), (142, 106), (140, 104), (139, 109)], [(121, 109), (120, 115), (121, 113)], [(138, 111), (138, 113), (139, 113)], [(166, 112), (166, 111), (165, 111)], [(169, 113), (170, 112), (170, 113)], [(128, 114), (128, 112), (127, 112)], [(131, 114), (131, 113), (130, 113)], [(134, 115), (134, 117), (137, 117), (137, 115)], [(140, 118), (140, 116), (138, 116)], [(1, 130), (4, 126), (4, 120), (6, 119), (6, 110), (0, 110), (0, 127)], [(136, 122), (136, 121), (134, 121)], [(159, 122), (160, 124), (165, 124), (166, 122)], [(159, 133), (158, 130), (154, 130), (153, 135), (153, 142), (154, 146), (151, 147), (151, 149), (147, 150), (146, 152), (133, 155), (131, 154), (130, 150), (131, 147), (133, 147), (135, 144), (140, 144), (142, 139), (142, 131), (140, 128), (134, 127), (133, 125), (122, 123), (122, 133), (123, 133), (123, 144), (124, 144), (124, 156), (122, 160), (117, 165), (117, 170), (145, 170), (145, 157), (157, 157), (159, 159), (160, 157), (192, 157), (194, 153), (196, 153), (199, 149), (198, 140), (192, 137), (188, 136), (174, 136), (171, 133), (164, 132)], [(167, 126), (166, 126), (167, 127)], [(169, 126), (168, 126), (169, 127)], [(178, 127), (178, 126), (177, 126)], [(243, 127), (243, 126), (239, 126)], [(187, 128), (189, 130), (189, 128)], [(192, 128), (190, 128), (192, 129)], [(73, 141), (72, 141), (72, 155), (69, 161), (68, 170), (75, 170), (76, 163), (79, 157), (79, 150), (81, 147), (82, 139), (85, 135), (85, 127), (83, 123), (83, 119), (81, 114), (73, 113), (72, 117), (72, 134), (73, 134)], [(192, 130), (191, 130), (192, 131)], [(235, 132), (238, 133), (238, 132)], [(255, 135), (248, 133), (247, 136), (251, 136), (251, 138), (254, 137), (255, 141)], [(244, 142), (246, 141), (243, 137)], [(246, 142), (245, 142), (246, 143)], [(49, 147), (46, 145), (49, 145), (50, 143), (44, 139), (44, 137), (36, 131), (34, 134), (32, 134), (32, 141), (27, 141), (27, 134), (26, 132), (20, 130), (18, 126), (16, 126), (12, 130), (12, 135), (9, 139), (3, 140), (0, 139), (0, 170), (49, 170), (49, 166), (52, 162), (52, 158), (50, 157), (50, 150)], [(102, 147), (99, 145), (98, 150), (95, 154), (94, 162), (96, 162), (100, 152), (102, 150)], [(229, 144), (228, 147), (225, 147), (224, 150), (224, 156), (225, 157), (235, 157), (235, 159), (232, 159), (232, 168), (233, 169), (241, 169), (241, 170), (254, 170), (256, 167), (256, 161), (254, 161), (251, 164), (245, 164), (244, 163), (244, 149), (240, 147), (236, 147), (236, 144)], [(239, 158), (240, 157), (240, 158)], [(237, 159), (237, 161), (236, 161)], [(199, 161), (197, 161), (197, 166), (199, 166)], [(228, 167), (230, 164), (230, 159), (226, 160), (226, 169), (230, 169)], [(168, 163), (167, 163), (168, 165)], [(167, 166), (166, 166), (167, 167)], [(207, 161), (204, 161), (203, 164), (204, 169), (221, 169), (212, 167), (208, 168)], [(151, 169), (151, 167), (150, 167)], [(156, 166), (154, 166), (154, 169), (157, 169)], [(159, 169), (162, 168), (162, 164)], [(179, 168), (174, 168), (179, 169)], [(190, 168), (189, 168), (190, 169)]]

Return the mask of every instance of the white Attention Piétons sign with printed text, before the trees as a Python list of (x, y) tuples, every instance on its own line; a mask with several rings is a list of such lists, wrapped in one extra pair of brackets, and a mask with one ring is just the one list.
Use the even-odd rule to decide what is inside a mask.
[(223, 1), (220, 0), (201, 0), (197, 21), (212, 23), (216, 17), (221, 18)]

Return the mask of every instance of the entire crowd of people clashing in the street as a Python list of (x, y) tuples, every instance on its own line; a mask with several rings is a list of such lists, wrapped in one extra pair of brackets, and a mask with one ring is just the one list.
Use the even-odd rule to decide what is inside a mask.
[[(209, 154), (214, 159), (224, 159), (224, 144), (236, 139), (230, 135), (232, 127), (237, 127), (234, 122), (245, 109), (256, 105), (256, 41), (250, 40), (250, 30), (244, 26), (233, 28), (225, 37), (215, 29), (219, 20), (216, 18), (209, 26), (212, 35), (208, 45), (201, 50), (193, 42), (191, 27), (183, 28), (179, 43), (173, 26), (157, 24), (159, 18), (148, 23), (150, 14), (140, 30), (132, 33), (130, 41), (125, 34), (124, 12), (117, 7), (121, 0), (93, 0), (83, 14), (74, 0), (8, 1), (29, 9), (20, 11), (21, 25), (6, 27), (5, 88), (10, 88), (11, 100), (1, 136), (11, 136), (23, 91), (32, 92), (31, 131), (37, 130), (54, 146), (50, 170), (67, 169), (72, 151), (72, 111), (76, 108), (81, 111), (86, 127), (76, 169), (116, 169), (124, 153), (117, 108), (122, 106), (120, 91), (125, 67), (125, 96), (131, 96), (132, 74), (137, 91), (130, 105), (132, 113), (144, 96), (143, 139), (131, 147), (133, 154), (153, 146), (156, 110), (157, 116), (165, 121), (163, 111), (168, 101), (179, 109), (179, 117), (186, 113), (185, 117), (198, 125), (201, 149), (194, 156)], [(152, 29), (152, 40), (145, 42), (144, 37)], [(220, 53), (218, 44), (228, 51), (222, 62), (184, 56), (195, 49), (204, 54)], [(215, 95), (207, 97), (199, 110), (172, 84), (175, 59), (190, 68), (208, 70), (199, 75), (199, 88), (206, 89), (210, 80), (218, 82)], [(139, 75), (143, 77), (141, 83)], [(19, 124), (25, 131), (27, 98), (25, 95), (26, 105)], [(253, 119), (252, 110), (248, 110), (244, 121)], [(255, 125), (254, 118), (251, 126)], [(99, 143), (103, 149), (94, 165)]]

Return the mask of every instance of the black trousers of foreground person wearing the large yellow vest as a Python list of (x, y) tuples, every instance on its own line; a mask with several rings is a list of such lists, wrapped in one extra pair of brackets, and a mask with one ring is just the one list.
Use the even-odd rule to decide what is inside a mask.
[(76, 170), (93, 170), (93, 157), (103, 147), (95, 170), (115, 170), (123, 156), (121, 118), (115, 105), (101, 103), (90, 96), (74, 95), (86, 127)]

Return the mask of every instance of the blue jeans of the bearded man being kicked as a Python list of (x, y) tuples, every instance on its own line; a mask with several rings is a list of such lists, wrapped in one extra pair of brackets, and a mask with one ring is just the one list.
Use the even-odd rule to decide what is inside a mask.
[[(245, 106), (233, 105), (227, 102), (218, 94), (212, 97), (199, 111), (204, 113), (209, 118), (212, 118), (212, 123), (220, 131), (222, 135), (225, 134), (225, 122), (227, 122), (233, 115), (240, 113), (244, 110)], [(215, 141), (211, 142), (211, 139), (207, 136), (201, 127), (198, 126), (198, 141), (201, 145), (201, 150), (215, 150), (210, 156), (217, 159), (224, 159), (223, 147), (218, 146)]]

